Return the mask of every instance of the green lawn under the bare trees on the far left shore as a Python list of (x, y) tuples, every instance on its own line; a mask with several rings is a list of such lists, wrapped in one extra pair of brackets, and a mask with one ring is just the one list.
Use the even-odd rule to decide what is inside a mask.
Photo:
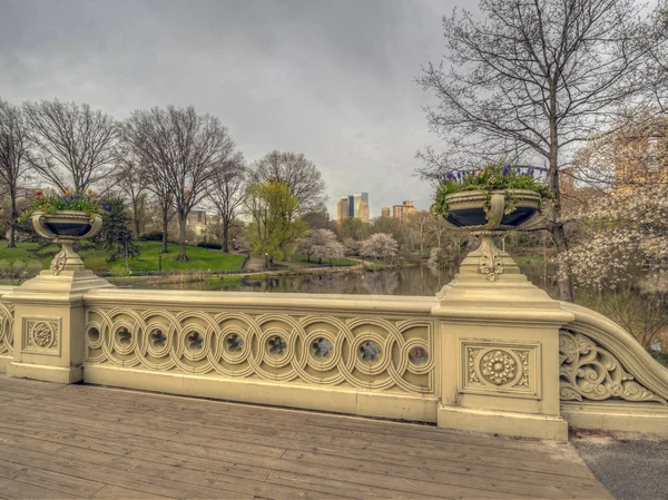
[[(130, 259), (130, 271), (141, 273), (147, 271), (158, 271), (158, 254), (161, 249), (160, 242), (138, 242), (141, 247), (141, 254)], [(38, 247), (36, 243), (19, 243), (18, 248), (8, 248), (7, 242), (0, 242), (0, 261), (40, 261), (43, 267), (48, 267), (51, 258), (58, 252), (56, 245), (51, 245), (41, 255), (36, 255), (31, 251)], [(165, 272), (188, 272), (188, 271), (238, 271), (244, 265), (243, 255), (224, 254), (222, 252), (209, 251), (198, 246), (188, 246), (187, 255), (189, 261), (186, 263), (176, 262), (178, 255), (178, 245), (169, 244), (169, 253), (163, 255), (163, 271)], [(87, 268), (96, 273), (117, 272), (122, 274), (125, 268), (122, 261), (112, 263), (107, 262), (109, 253), (88, 247), (86, 244), (78, 251)]]

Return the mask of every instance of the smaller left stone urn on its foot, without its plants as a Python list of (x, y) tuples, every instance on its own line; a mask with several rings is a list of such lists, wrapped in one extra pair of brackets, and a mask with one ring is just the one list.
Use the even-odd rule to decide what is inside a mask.
[(81, 239), (91, 238), (102, 228), (102, 217), (85, 212), (62, 210), (47, 215), (32, 214), (32, 226), (41, 237), (59, 244), (62, 249), (51, 261), (51, 272), (58, 276), (63, 271), (82, 271), (84, 262), (72, 249)]

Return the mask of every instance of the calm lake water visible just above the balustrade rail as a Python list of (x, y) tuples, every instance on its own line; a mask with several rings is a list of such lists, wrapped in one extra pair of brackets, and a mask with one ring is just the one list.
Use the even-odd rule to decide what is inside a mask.
[[(529, 280), (558, 297), (559, 290), (552, 282), (553, 268), (547, 273), (542, 264), (520, 266)], [(208, 290), (236, 292), (276, 293), (334, 293), (371, 295), (434, 295), (455, 274), (455, 267), (434, 268), (428, 265), (381, 271), (354, 271), (348, 273), (306, 274), (296, 276), (268, 276), (264, 280), (243, 278), (229, 281), (210, 278), (204, 282), (170, 283), (156, 285), (156, 288)], [(546, 280), (547, 275), (547, 280)], [(547, 282), (547, 284), (546, 284)]]

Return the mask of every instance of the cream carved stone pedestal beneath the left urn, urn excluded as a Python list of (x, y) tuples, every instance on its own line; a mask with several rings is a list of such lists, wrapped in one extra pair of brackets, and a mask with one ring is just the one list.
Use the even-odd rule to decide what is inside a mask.
[(112, 286), (85, 269), (42, 271), (4, 295), (13, 305), (13, 360), (8, 375), (58, 383), (82, 380), (85, 308), (82, 295)]

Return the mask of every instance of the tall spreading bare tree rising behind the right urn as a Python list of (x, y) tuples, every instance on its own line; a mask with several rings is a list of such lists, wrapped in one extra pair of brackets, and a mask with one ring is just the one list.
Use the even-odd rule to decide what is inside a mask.
[[(547, 164), (554, 195), (547, 227), (564, 252), (559, 169), (578, 141), (621, 126), (625, 106), (642, 105), (656, 88), (646, 69), (665, 28), (641, 19), (633, 0), (482, 0), (480, 10), (481, 21), (466, 11), (443, 18), (449, 67), (430, 63), (418, 78), (439, 98), (429, 124), (451, 145), (443, 156), (419, 155), (422, 173), (452, 169), (462, 157)], [(573, 300), (568, 274), (560, 290)]]

